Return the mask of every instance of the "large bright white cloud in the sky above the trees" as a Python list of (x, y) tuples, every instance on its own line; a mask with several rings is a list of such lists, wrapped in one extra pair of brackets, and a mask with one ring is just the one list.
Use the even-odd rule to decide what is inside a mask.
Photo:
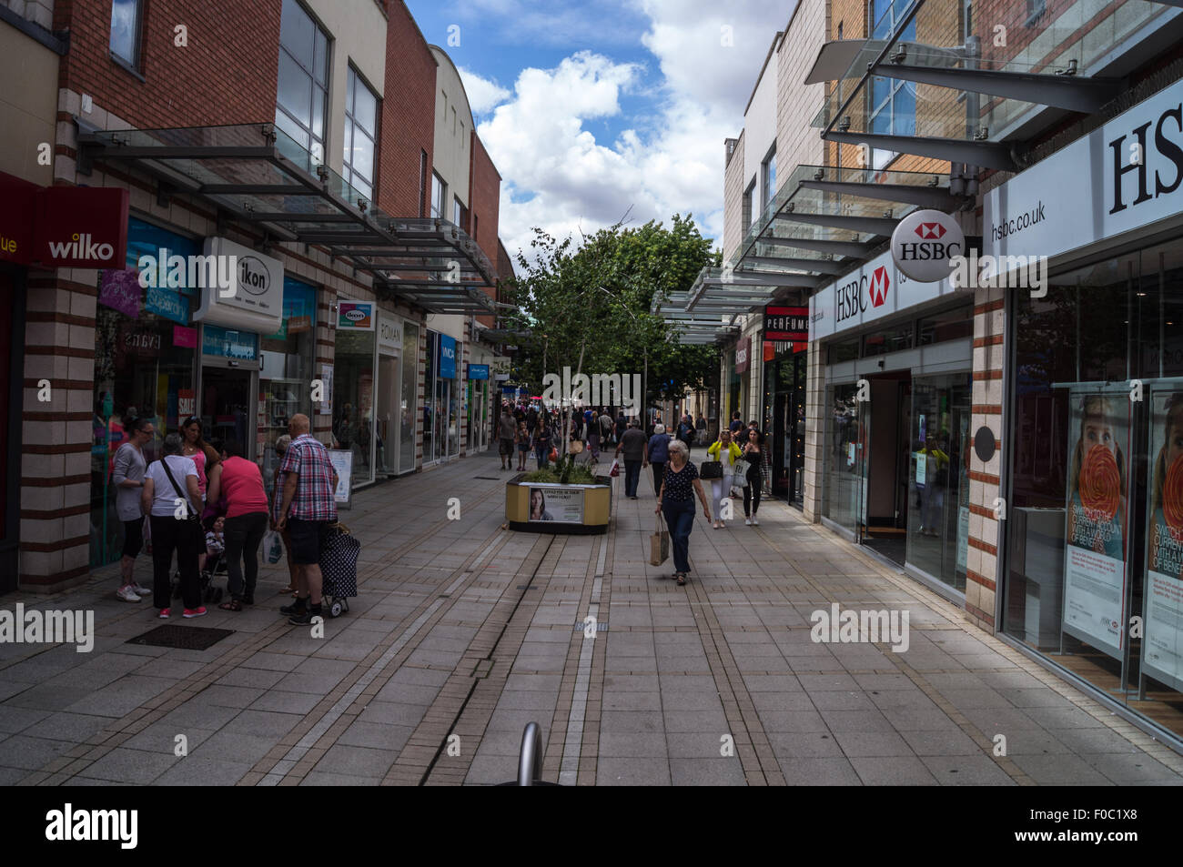
[[(523, 70), (512, 97), (478, 128), (505, 179), (506, 250), (529, 252), (532, 226), (577, 241), (581, 229), (609, 226), (629, 207), (631, 225), (693, 213), (722, 246), (723, 142), (743, 128), (761, 64), (794, 4), (738, 0), (720, 12), (713, 0), (633, 0), (648, 17), (641, 43), (661, 78), (648, 93), (657, 110), (632, 118), (614, 142), (596, 140), (596, 121), (621, 114), (621, 96), (645, 83), (644, 67), (582, 51), (550, 70)], [(720, 39), (725, 25), (730, 46)], [(471, 91), (470, 101), (476, 110)]]

